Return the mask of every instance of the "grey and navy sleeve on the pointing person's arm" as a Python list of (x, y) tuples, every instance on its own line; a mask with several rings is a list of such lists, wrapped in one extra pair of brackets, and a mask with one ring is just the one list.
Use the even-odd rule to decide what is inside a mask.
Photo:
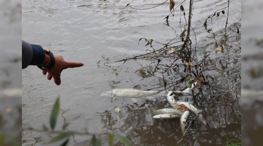
[(45, 52), (40, 45), (32, 45), (22, 40), (22, 69), (28, 65), (40, 65), (45, 60)]

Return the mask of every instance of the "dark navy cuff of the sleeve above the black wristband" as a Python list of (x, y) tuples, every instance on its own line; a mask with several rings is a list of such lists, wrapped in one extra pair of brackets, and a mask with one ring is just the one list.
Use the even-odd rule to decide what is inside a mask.
[(40, 45), (32, 45), (33, 57), (30, 65), (40, 65), (45, 60), (45, 52)]

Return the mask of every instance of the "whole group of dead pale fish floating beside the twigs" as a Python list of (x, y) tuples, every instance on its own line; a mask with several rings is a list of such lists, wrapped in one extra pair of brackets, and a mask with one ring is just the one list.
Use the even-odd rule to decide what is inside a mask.
[[(184, 133), (185, 127), (188, 125), (187, 119), (190, 115), (190, 111), (198, 115), (198, 119), (203, 124), (207, 124), (205, 118), (203, 117), (201, 109), (197, 109), (194, 105), (188, 102), (182, 102), (182, 101), (175, 100), (176, 95), (174, 93), (183, 95), (184, 93), (187, 93), (193, 90), (197, 84), (198, 84), (197, 82), (194, 82), (191, 88), (186, 88), (183, 91), (169, 91), (166, 98), (167, 98), (169, 105), (171, 105), (171, 108), (155, 110), (153, 118), (162, 119), (162, 120), (180, 118), (180, 126), (181, 126), (182, 133)], [(140, 97), (156, 95), (164, 90), (165, 89), (158, 90), (158, 91), (144, 91), (144, 90), (141, 90), (140, 85), (137, 85), (137, 86), (134, 86), (133, 88), (117, 88), (111, 91), (105, 91), (101, 93), (101, 95), (111, 96), (111, 102), (113, 102), (115, 97), (140, 98)]]

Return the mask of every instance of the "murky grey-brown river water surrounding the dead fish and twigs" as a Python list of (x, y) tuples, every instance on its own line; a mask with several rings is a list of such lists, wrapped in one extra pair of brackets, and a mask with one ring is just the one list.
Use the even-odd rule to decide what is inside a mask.
[[(68, 130), (89, 133), (114, 132), (128, 138), (132, 145), (224, 145), (226, 137), (240, 139), (240, 91), (241, 89), (241, 39), (240, 34), (231, 33), (241, 27), (240, 1), (231, 1), (228, 25), (225, 31), (225, 14), (212, 18), (203, 27), (205, 19), (226, 1), (194, 1), (191, 32), (192, 48), (185, 51), (185, 58), (171, 54), (162, 55), (158, 64), (151, 58), (115, 62), (127, 57), (141, 55), (152, 50), (139, 38), (153, 39), (166, 44), (181, 34), (185, 20), (179, 9), (174, 17), (169, 16), (165, 3), (148, 10), (123, 9), (130, 1), (22, 1), (22, 38), (32, 44), (40, 44), (67, 61), (84, 62), (83, 67), (67, 69), (61, 74), (61, 85), (56, 86), (34, 66), (22, 70), (22, 127), (42, 128), (49, 125), (52, 105), (60, 95), (60, 113), (56, 130), (69, 123)], [(176, 1), (176, 6), (181, 2)], [(133, 1), (134, 8), (150, 8), (159, 1)], [(184, 8), (188, 14), (189, 1)], [(123, 9), (123, 10), (122, 10)], [(187, 17), (186, 17), (187, 19)], [(231, 34), (229, 34), (231, 33)], [(229, 34), (229, 35), (228, 35)], [(196, 40), (195, 40), (196, 35)], [(228, 36), (227, 36), (228, 35)], [(224, 38), (227, 36), (227, 39)], [(180, 38), (172, 42), (179, 41)], [(223, 52), (212, 51), (216, 43), (222, 43)], [(181, 43), (173, 44), (174, 46)], [(196, 45), (195, 45), (196, 44)], [(153, 42), (153, 48), (162, 44)], [(169, 107), (165, 92), (150, 98), (117, 98), (110, 102), (101, 93), (113, 88), (131, 88), (140, 84), (143, 89), (163, 85), (162, 71), (169, 83), (187, 74), (185, 61), (201, 62), (204, 54), (212, 53), (202, 63), (205, 80), (202, 91), (195, 90), (193, 96), (186, 94), (180, 101), (193, 103), (203, 109), (207, 125), (196, 121), (191, 132), (183, 140), (179, 119), (161, 121), (152, 119), (152, 109)], [(168, 57), (167, 57), (168, 56)], [(160, 56), (161, 57), (161, 56)], [(178, 57), (178, 56), (177, 56)], [(196, 65), (196, 63), (193, 63)], [(196, 67), (192, 67), (196, 72)], [(194, 77), (191, 74), (189, 77)], [(185, 83), (173, 84), (179, 90)], [(162, 87), (163, 88), (163, 87)], [(161, 89), (161, 88), (158, 88)], [(118, 115), (114, 107), (121, 108)], [(191, 114), (188, 122), (193, 119)], [(23, 145), (43, 145), (56, 133), (23, 131)], [(196, 139), (193, 139), (196, 137)], [(107, 145), (107, 138), (102, 136)], [(89, 145), (91, 135), (75, 135), (69, 145)], [(179, 143), (178, 143), (179, 142)], [(120, 145), (115, 140), (116, 145)]]

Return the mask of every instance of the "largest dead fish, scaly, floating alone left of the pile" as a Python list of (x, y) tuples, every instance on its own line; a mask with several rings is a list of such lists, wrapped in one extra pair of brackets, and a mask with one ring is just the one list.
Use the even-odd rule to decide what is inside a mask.
[(141, 90), (141, 86), (137, 85), (133, 88), (117, 88), (110, 91), (105, 91), (101, 93), (101, 96), (111, 96), (110, 102), (113, 102), (115, 97), (123, 97), (123, 98), (140, 98), (140, 97), (147, 97), (151, 95), (156, 95), (165, 89), (158, 90), (158, 91), (145, 91)]

